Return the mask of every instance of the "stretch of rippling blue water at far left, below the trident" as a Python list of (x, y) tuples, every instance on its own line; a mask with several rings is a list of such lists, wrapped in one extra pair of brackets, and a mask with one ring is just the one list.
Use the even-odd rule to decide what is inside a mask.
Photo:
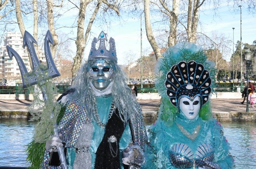
[(0, 166), (29, 166), (26, 145), (31, 142), (35, 122), (0, 121)]

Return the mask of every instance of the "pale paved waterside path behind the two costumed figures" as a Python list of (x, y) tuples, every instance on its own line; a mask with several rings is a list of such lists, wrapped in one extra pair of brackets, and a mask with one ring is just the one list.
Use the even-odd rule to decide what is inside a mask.
[[(212, 112), (245, 112), (246, 102), (241, 104), (242, 99), (211, 99)], [(157, 110), (160, 100), (138, 100), (143, 112), (150, 112)], [(29, 100), (0, 100), (0, 110), (22, 110), (32, 101)], [(249, 105), (250, 107), (250, 105)], [(250, 111), (256, 112), (256, 109), (249, 108)]]

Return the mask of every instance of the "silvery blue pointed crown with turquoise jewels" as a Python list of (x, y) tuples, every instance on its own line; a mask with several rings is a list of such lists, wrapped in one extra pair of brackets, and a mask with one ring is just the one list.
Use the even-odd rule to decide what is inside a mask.
[[(103, 31), (99, 34), (98, 39), (96, 39), (96, 37), (93, 38), (88, 60), (95, 58), (107, 58), (117, 62), (115, 40), (112, 37), (109, 39), (109, 51), (106, 49), (105, 40), (108, 41), (107, 36)], [(99, 48), (96, 49), (96, 43), (98, 41)]]

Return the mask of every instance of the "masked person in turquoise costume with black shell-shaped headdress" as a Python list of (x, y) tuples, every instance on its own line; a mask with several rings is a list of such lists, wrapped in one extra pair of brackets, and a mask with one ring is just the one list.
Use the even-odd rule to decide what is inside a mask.
[(221, 124), (212, 118), (209, 95), (215, 68), (201, 47), (179, 43), (156, 65), (162, 96), (149, 128), (145, 169), (230, 169), (233, 158)]

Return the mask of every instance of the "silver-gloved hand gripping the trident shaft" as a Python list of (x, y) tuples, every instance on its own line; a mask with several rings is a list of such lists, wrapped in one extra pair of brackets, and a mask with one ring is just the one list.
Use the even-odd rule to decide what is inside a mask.
[(59, 134), (58, 137), (51, 135), (50, 139), (45, 144), (45, 149), (47, 152), (57, 152), (57, 147), (63, 147), (62, 135)]

